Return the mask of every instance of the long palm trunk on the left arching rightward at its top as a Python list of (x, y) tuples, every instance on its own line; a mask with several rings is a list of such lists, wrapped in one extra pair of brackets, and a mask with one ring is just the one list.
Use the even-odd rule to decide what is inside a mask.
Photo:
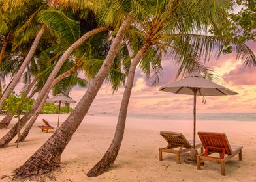
[[(63, 65), (63, 63), (65, 62), (65, 60), (69, 57), (69, 55), (71, 55), (72, 51), (74, 51), (74, 49), (76, 49), (77, 47), (79, 47), (84, 41), (86, 41), (88, 38), (90, 38), (91, 36), (102, 32), (102, 31), (106, 31), (108, 30), (108, 27), (100, 27), (97, 29), (93, 29), (89, 32), (87, 32), (86, 34), (84, 34), (81, 38), (79, 38), (78, 40), (76, 40), (76, 42), (74, 42), (66, 51), (65, 53), (63, 53), (63, 55), (61, 56), (61, 58), (59, 59), (59, 61), (57, 62), (56, 66), (54, 67), (54, 70), (52, 70), (52, 73), (50, 74), (50, 76), (48, 77), (44, 87), (42, 88), (42, 90), (40, 91), (39, 96), (37, 96), (37, 99), (35, 101), (35, 103), (33, 103), (31, 110), (29, 110), (29, 112), (27, 112), (22, 119), (20, 120), (20, 129), (22, 129), (22, 127), (24, 127), (24, 125), (27, 123), (27, 121), (33, 116), (33, 114), (35, 113), (35, 111), (37, 110), (37, 108), (39, 107), (42, 99), (44, 98), (44, 96), (46, 95), (46, 93), (48, 92), (48, 89), (50, 88), (50, 86), (52, 85), (52, 82), (54, 81), (54, 78), (56, 77), (57, 73), (59, 72), (59, 70), (61, 69), (61, 66)], [(3, 136), (3, 138), (1, 138), (0, 140), (0, 148), (3, 148), (5, 146), (8, 145), (8, 143), (10, 142), (10, 140), (12, 140), (12, 138), (14, 138), (16, 135), (18, 134), (18, 123), (16, 123), (14, 125), (14, 127), (12, 127), (12, 129), (10, 129), (10, 131), (8, 131), (8, 133)]]

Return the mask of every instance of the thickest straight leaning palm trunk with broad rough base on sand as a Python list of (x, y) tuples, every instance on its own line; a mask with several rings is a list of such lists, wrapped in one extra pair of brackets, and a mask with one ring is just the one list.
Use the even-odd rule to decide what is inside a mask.
[(15, 177), (25, 177), (38, 173), (49, 172), (55, 167), (59, 166), (61, 153), (69, 143), (69, 140), (71, 140), (72, 135), (88, 112), (93, 99), (99, 91), (99, 88), (101, 88), (101, 85), (103, 84), (112, 63), (114, 62), (123, 40), (123, 36), (125, 35), (130, 23), (131, 19), (126, 19), (122, 23), (116, 37), (114, 38), (114, 41), (110, 46), (110, 50), (108, 51), (108, 55), (106, 56), (103, 65), (95, 76), (95, 79), (93, 79), (93, 83), (91, 83), (89, 86), (86, 94), (84, 94), (78, 105), (76, 105), (73, 112), (54, 132), (54, 134), (25, 162), (25, 164), (14, 171)]

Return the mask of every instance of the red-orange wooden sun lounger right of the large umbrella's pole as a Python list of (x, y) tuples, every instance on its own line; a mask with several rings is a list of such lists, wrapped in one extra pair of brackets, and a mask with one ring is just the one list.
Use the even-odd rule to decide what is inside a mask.
[[(225, 175), (225, 162), (239, 154), (242, 161), (242, 146), (231, 146), (225, 133), (198, 132), (199, 138), (205, 151), (197, 155), (197, 169), (200, 170), (200, 160), (218, 162), (221, 164), (221, 175)], [(209, 156), (212, 153), (219, 153), (219, 157)], [(226, 155), (226, 156), (225, 156)]]

